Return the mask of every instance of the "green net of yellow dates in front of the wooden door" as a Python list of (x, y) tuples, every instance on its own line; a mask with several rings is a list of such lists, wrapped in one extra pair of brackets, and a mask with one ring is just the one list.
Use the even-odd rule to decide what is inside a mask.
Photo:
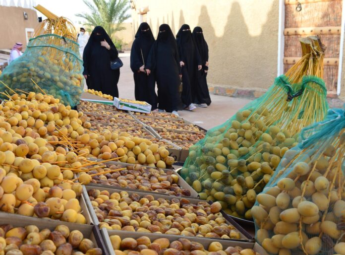
[(324, 81), (305, 76), (290, 84), (285, 75), (226, 123), (190, 147), (181, 176), (202, 199), (219, 201), (235, 217), (251, 219), (250, 208), (297, 144), (299, 131), (327, 113)]

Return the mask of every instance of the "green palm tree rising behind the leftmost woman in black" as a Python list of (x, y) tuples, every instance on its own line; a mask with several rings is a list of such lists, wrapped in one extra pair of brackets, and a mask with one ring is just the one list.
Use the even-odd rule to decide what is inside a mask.
[(123, 30), (121, 23), (130, 17), (128, 0), (83, 0), (91, 13), (78, 13), (77, 17), (85, 19), (84, 25), (102, 26), (113, 39), (116, 31)]

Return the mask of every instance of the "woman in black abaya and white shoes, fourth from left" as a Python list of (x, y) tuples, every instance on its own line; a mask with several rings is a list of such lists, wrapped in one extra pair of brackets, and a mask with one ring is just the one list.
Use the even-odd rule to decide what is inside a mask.
[(201, 60), (196, 48), (189, 25), (182, 25), (176, 35), (180, 66), (182, 72), (182, 103), (183, 108), (189, 111), (196, 109), (193, 102), (196, 101), (197, 88), (196, 72), (201, 70)]

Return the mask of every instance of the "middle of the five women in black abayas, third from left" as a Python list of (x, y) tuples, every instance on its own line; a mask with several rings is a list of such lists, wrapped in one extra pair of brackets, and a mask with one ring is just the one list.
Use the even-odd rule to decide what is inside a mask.
[(160, 25), (157, 40), (151, 47), (145, 69), (147, 75), (155, 71), (159, 111), (165, 110), (178, 116), (177, 110), (181, 105), (178, 94), (181, 68), (176, 40), (168, 24)]

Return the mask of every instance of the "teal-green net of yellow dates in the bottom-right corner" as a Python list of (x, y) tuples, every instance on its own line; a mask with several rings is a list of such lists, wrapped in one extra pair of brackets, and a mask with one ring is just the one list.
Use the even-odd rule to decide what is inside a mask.
[(345, 111), (302, 130), (252, 208), (270, 254), (345, 253)]

